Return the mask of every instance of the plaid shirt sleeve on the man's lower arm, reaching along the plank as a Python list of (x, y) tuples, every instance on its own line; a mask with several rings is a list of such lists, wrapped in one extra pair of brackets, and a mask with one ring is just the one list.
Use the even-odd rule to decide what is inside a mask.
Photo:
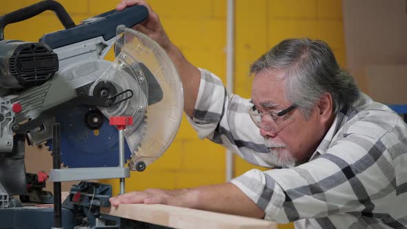
[(231, 182), (279, 223), (344, 212), (385, 215), (395, 204), (390, 154), (382, 139), (348, 135), (301, 166), (250, 170)]

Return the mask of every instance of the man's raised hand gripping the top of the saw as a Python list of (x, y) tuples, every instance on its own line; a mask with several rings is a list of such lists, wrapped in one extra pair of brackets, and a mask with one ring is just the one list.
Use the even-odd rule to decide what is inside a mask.
[(170, 52), (171, 49), (174, 49), (175, 46), (171, 43), (166, 32), (164, 31), (163, 26), (159, 21), (158, 14), (152, 10), (152, 8), (148, 5), (148, 3), (146, 3), (146, 1), (121, 0), (121, 2), (116, 6), (116, 10), (123, 10), (127, 6), (133, 5), (142, 5), (148, 8), (148, 18), (145, 21), (134, 26), (133, 29), (146, 34), (152, 40), (159, 43), (159, 45), (167, 52)]

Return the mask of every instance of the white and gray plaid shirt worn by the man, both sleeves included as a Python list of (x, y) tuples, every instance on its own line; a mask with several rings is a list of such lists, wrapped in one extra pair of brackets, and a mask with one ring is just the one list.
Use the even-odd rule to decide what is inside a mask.
[[(251, 105), (201, 70), (194, 117), (188, 119), (200, 138), (272, 168), (270, 152), (248, 116)], [(295, 221), (296, 228), (405, 228), (406, 123), (361, 94), (352, 109), (336, 115), (308, 162), (250, 170), (231, 182), (266, 212), (266, 219)]]

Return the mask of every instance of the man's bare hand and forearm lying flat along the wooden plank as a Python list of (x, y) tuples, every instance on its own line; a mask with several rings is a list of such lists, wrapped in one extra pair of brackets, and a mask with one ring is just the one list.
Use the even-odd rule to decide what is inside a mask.
[(232, 183), (179, 190), (148, 189), (142, 192), (129, 192), (110, 198), (110, 203), (115, 207), (119, 206), (119, 203), (161, 203), (232, 215), (264, 218), (264, 210), (261, 210)]

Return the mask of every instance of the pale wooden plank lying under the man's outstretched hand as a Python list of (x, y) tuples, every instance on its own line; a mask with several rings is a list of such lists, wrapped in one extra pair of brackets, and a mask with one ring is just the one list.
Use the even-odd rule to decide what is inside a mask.
[(276, 229), (277, 223), (249, 217), (162, 204), (120, 204), (117, 208), (101, 208), (101, 213), (154, 223), (170, 228)]

